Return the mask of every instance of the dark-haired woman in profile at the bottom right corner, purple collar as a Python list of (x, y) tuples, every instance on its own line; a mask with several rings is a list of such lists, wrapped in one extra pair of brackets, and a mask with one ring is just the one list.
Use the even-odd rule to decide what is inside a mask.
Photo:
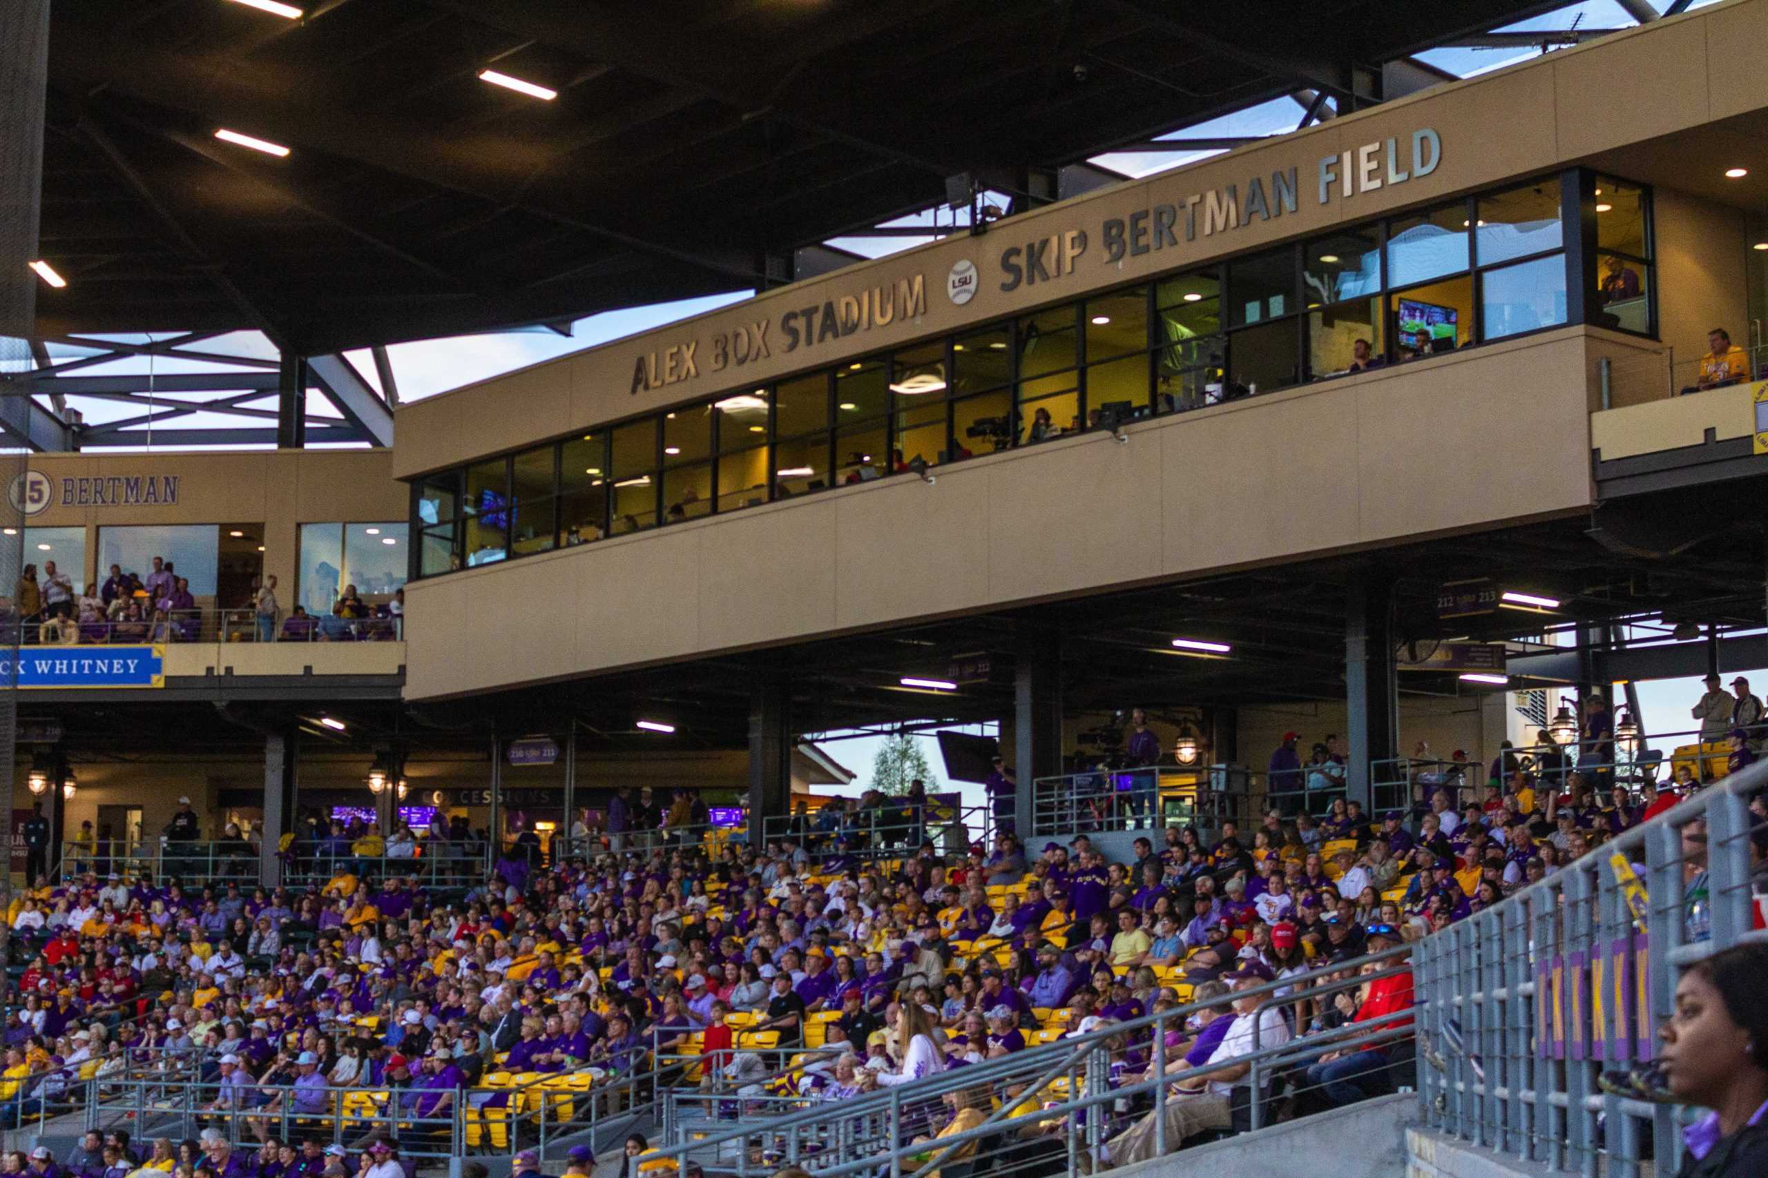
[(1768, 1174), (1768, 945), (1736, 945), (1681, 975), (1658, 1031), (1669, 1091), (1711, 1109), (1683, 1130), (1676, 1178)]

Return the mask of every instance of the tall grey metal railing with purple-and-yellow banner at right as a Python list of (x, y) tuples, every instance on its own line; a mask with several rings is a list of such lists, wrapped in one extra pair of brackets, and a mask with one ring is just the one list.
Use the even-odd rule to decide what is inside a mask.
[(1731, 774), (1418, 945), (1430, 1127), (1588, 1176), (1676, 1171), (1678, 1109), (1598, 1077), (1650, 1067), (1676, 968), (1761, 936), (1763, 788), (1768, 763)]

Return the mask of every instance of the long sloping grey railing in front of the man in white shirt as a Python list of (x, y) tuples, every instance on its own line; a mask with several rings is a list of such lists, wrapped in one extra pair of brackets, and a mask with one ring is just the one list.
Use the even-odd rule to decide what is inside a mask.
[[(675, 1173), (686, 1173), (693, 1162), (739, 1178), (780, 1166), (803, 1166), (831, 1178), (854, 1173), (926, 1178), (935, 1167), (949, 1178), (981, 1171), (1075, 1178), (1107, 1159), (1124, 1164), (1135, 1160), (1139, 1150), (1158, 1157), (1177, 1148), (1188, 1136), (1183, 1114), (1172, 1118), (1176, 1104), (1186, 1100), (1174, 1091), (1181, 1079), (1222, 1077), (1222, 1084), (1236, 1084), (1245, 1095), (1234, 1099), (1234, 1114), (1220, 1129), (1246, 1130), (1287, 1116), (1292, 1100), (1337, 1102), (1344, 1097), (1342, 1088), (1331, 1088), (1314, 1069), (1330, 1053), (1383, 1053), (1363, 1069), (1367, 1090), (1351, 1099), (1404, 1090), (1413, 1070), (1411, 1008), (1337, 1028), (1308, 1024), (1299, 1038), (1287, 1035), (1291, 1024), (1278, 1016), (1284, 1042), (1262, 1040), (1268, 1024), (1262, 1016), (1337, 1007), (1338, 994), (1404, 975), (1409, 952), (1402, 945), (1229, 996), (1110, 1023), (1086, 1035), (951, 1067), (912, 1084), (838, 1091), (836, 1099), (776, 1116), (744, 1113), (735, 1125), (693, 1125), (667, 1141), (654, 1159)], [(1169, 1058), (1190, 1046), (1185, 1028), (1193, 1016), (1211, 1017), (1231, 1001), (1252, 1003), (1243, 1010), (1252, 1016), (1250, 1053), (1199, 1067)], [(999, 1106), (994, 1095), (1001, 1097)], [(971, 1127), (948, 1125), (937, 1141), (928, 1141), (948, 1120), (942, 1111), (948, 1102), (974, 1107), (981, 1116), (971, 1118)]]

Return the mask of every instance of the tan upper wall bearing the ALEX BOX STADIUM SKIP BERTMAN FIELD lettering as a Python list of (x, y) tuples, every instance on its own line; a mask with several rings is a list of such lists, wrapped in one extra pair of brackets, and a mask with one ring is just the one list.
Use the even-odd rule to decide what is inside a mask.
[[(686, 403), (697, 396), (741, 390), (847, 355), (987, 321), (1174, 267), (1243, 253), (1261, 244), (1317, 233), (1337, 224), (1354, 224), (1423, 201), (1503, 184), (1508, 178), (1612, 155), (1619, 147), (1674, 136), (1717, 118), (1761, 111), (1768, 108), (1768, 88), (1761, 85), (1756, 65), (1761, 60), (1757, 49), (1764, 42), (1763, 28), (1768, 28), (1768, 0), (1733, 0), (1681, 18), (1655, 21), (1513, 69), (1333, 118), (1269, 145), (1241, 148), (1142, 182), (1116, 185), (1013, 217), (979, 238), (960, 235), (875, 263), (849, 267), (826, 279), (767, 291), (750, 302), (645, 336), (401, 406), (396, 475), (403, 479), (438, 470), (474, 456)], [(1665, 79), (1674, 79), (1674, 85), (1665, 85)], [(1443, 138), (1443, 161), (1434, 173), (1351, 198), (1335, 189), (1328, 203), (1319, 203), (1315, 166), (1322, 155), (1386, 141), (1388, 136), (1400, 136), (1402, 147), (1407, 147), (1411, 132), (1420, 127), (1434, 127)], [(1183, 201), (1186, 196), (1225, 184), (1245, 187), (1254, 175), (1264, 177), (1269, 184), (1273, 171), (1289, 168), (1298, 170), (1299, 180), (1294, 214), (1254, 221), (1250, 226), (1211, 237), (1204, 237), (1199, 226), (1195, 240), (1186, 242), (1181, 233), (1176, 247), (1130, 254), (1116, 265), (1107, 261), (1100, 240), (1100, 224), (1107, 217), (1124, 217), (1133, 210)], [(1671, 268), (1660, 281), (1667, 291), (1680, 291), (1680, 281), (1685, 277), (1683, 258), (1690, 263), (1697, 258), (1692, 247), (1699, 240), (1703, 217), (1681, 219), (1674, 198), (1667, 205), (1669, 245), (1676, 256), (1667, 260)], [(1004, 247), (1066, 230), (1086, 230), (1091, 237), (1087, 253), (1071, 274), (1048, 283), (1022, 284), (1011, 293), (999, 290), (999, 256)], [(1685, 244), (1688, 253), (1683, 251)], [(1699, 258), (1711, 261), (1718, 253), (1722, 249), (1713, 247)], [(958, 260), (972, 261), (981, 272), (979, 293), (964, 307), (953, 306), (944, 295), (946, 276)], [(1726, 260), (1722, 267), (1734, 263), (1741, 263), (1740, 256)], [(781, 350), (780, 316), (785, 311), (820, 306), (827, 298), (857, 295), (866, 288), (895, 284), (912, 276), (921, 276), (925, 283), (925, 314), (792, 353)], [(1715, 276), (1710, 291), (1713, 298), (1690, 297), (1687, 311), (1678, 306), (1667, 316), (1665, 327), (1674, 332), (1673, 343), (1680, 334), (1694, 330), (1683, 320), (1703, 323), (1703, 318), (1713, 314), (1733, 314), (1731, 302), (1718, 290), (1722, 281), (1726, 281), (1722, 274)], [(1734, 290), (1736, 298), (1741, 298), (1741, 283)], [(1674, 293), (1673, 298), (1681, 300), (1681, 295)], [(732, 364), (721, 373), (709, 371), (713, 337), (760, 320), (773, 321), (771, 355), (741, 367)], [(636, 362), (649, 353), (658, 353), (661, 359), (670, 348), (688, 343), (698, 344), (695, 378), (636, 394), (631, 390)], [(1683, 348), (1681, 343), (1676, 346), (1678, 351)]]

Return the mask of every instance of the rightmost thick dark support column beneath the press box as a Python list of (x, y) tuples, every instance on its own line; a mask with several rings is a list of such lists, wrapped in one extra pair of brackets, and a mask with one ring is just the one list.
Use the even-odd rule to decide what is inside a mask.
[(1345, 798), (1374, 812), (1368, 763), (1398, 756), (1400, 705), (1393, 664), (1393, 583), (1360, 569), (1345, 586), (1344, 692), (1351, 765)]

